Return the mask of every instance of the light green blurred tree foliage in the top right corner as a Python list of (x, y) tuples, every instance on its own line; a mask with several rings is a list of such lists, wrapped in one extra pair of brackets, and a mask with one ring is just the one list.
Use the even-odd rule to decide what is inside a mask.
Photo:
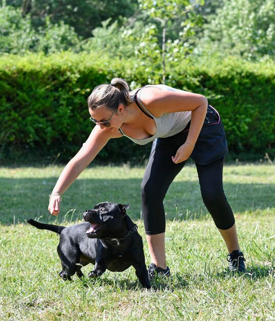
[(202, 50), (223, 51), (259, 59), (275, 54), (275, 2), (273, 0), (224, 1), (205, 25)]

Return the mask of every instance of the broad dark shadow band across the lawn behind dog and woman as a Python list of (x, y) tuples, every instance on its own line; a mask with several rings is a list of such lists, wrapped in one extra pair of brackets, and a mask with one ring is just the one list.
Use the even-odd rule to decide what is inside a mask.
[[(141, 218), (141, 179), (78, 179), (62, 196), (61, 212), (56, 218), (48, 212), (49, 194), (57, 177), (1, 178), (1, 224), (26, 223), (41, 217), (45, 223), (60, 224), (82, 220), (84, 210), (108, 200), (130, 204), (128, 214)], [(234, 212), (255, 211), (275, 207), (275, 184), (225, 183), (225, 194)], [(198, 182), (174, 182), (164, 199), (166, 219), (203, 219), (207, 210), (202, 202)]]

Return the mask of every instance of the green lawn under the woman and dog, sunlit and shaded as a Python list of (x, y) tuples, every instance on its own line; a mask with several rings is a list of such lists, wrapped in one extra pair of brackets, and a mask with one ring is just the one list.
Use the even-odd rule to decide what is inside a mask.
[[(144, 290), (134, 269), (64, 282), (58, 236), (28, 218), (72, 225), (96, 203), (130, 204), (140, 220), (144, 168), (91, 167), (68, 189), (61, 214), (48, 214), (48, 195), (60, 167), (0, 168), (0, 320), (275, 320), (274, 166), (224, 169), (224, 189), (235, 212), (248, 273), (227, 271), (226, 249), (201, 200), (194, 166), (178, 175), (165, 197), (170, 279)], [(150, 263), (144, 243), (146, 264)], [(92, 265), (82, 268), (87, 276)]]

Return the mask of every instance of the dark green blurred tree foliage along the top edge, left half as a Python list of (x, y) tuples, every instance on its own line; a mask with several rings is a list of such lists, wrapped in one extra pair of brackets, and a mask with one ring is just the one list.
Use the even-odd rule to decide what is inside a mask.
[[(136, 0), (5, 0), (7, 5), (20, 8), (23, 16), (28, 15), (36, 28), (44, 27), (47, 18), (51, 23), (61, 21), (74, 28), (84, 38), (92, 35), (92, 30), (102, 21), (111, 18), (120, 20), (123, 16), (131, 16), (137, 9)], [(1, 2), (0, 2), (1, 3)]]

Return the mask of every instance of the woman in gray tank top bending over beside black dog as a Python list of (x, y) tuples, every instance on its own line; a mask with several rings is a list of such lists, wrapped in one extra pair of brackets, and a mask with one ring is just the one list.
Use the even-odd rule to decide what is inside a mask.
[(123, 135), (136, 144), (153, 142), (142, 181), (142, 214), (152, 263), (149, 277), (170, 275), (165, 259), (163, 199), (189, 157), (195, 160), (203, 202), (229, 252), (229, 269), (245, 271), (235, 218), (226, 200), (223, 160), (225, 133), (218, 112), (199, 94), (165, 85), (132, 92), (121, 78), (97, 86), (88, 98), (96, 125), (86, 143), (62, 171), (50, 195), (49, 211), (58, 215), (61, 195), (111, 138)]

